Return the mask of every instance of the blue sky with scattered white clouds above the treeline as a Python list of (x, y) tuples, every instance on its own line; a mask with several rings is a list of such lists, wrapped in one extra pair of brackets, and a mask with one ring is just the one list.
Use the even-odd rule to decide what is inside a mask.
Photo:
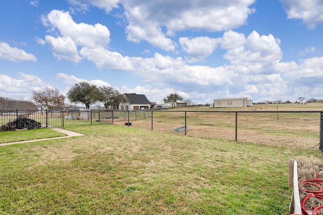
[(85, 81), (158, 104), (323, 99), (322, 38), (315, 0), (1, 1), (0, 96)]

